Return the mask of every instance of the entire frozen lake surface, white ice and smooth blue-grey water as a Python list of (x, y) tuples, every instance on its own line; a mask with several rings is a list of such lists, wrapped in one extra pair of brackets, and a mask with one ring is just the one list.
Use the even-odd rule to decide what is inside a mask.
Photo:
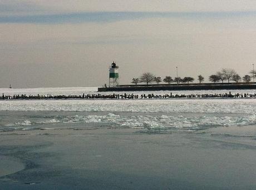
[(255, 189), (255, 126), (256, 99), (2, 100), (0, 189)]

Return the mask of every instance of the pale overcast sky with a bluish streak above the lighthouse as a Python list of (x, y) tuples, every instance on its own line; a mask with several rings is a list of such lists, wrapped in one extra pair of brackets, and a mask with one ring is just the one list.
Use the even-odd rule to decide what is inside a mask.
[(0, 88), (101, 86), (113, 60), (120, 83), (256, 61), (256, 1), (0, 0)]

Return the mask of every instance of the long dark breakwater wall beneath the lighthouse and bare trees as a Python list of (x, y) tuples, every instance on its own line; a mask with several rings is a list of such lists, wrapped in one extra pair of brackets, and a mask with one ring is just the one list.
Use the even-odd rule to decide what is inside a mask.
[(181, 85), (120, 85), (115, 88), (98, 88), (99, 92), (104, 91), (158, 91), (158, 90), (246, 90), (255, 89), (256, 84), (181, 84)]

